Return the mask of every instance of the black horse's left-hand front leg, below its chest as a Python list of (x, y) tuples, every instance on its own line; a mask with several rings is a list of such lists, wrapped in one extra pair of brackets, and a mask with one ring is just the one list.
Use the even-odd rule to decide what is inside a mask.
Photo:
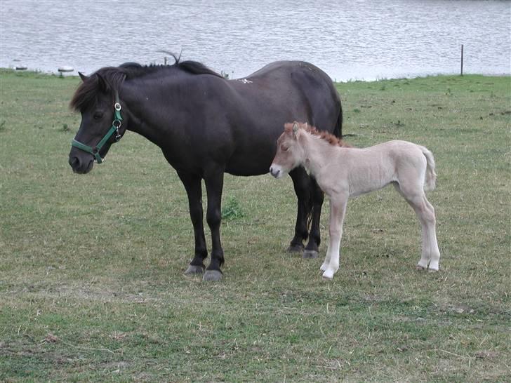
[(195, 255), (185, 274), (202, 274), (206, 268), (204, 258), (208, 256), (206, 238), (204, 238), (204, 224), (202, 222), (202, 180), (198, 175), (189, 173), (178, 172), (178, 175), (183, 185), (185, 185), (195, 237)]

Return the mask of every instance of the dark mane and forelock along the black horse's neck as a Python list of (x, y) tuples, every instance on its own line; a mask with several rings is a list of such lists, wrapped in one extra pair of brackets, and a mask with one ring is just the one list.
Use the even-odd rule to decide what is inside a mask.
[(206, 65), (197, 61), (180, 61), (180, 57), (173, 53), (165, 52), (171, 55), (175, 62), (173, 65), (140, 65), (137, 62), (125, 62), (119, 67), (103, 67), (88, 76), (77, 88), (74, 96), (69, 102), (69, 107), (76, 111), (86, 109), (95, 102), (98, 92), (110, 92), (119, 90), (121, 84), (129, 79), (167, 70), (169, 68), (179, 69), (190, 74), (211, 74), (222, 77), (221, 74), (206, 67)]

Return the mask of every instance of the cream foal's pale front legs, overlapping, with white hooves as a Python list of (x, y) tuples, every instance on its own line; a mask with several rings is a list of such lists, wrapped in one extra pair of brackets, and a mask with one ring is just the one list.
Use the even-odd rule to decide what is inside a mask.
[(346, 213), (347, 196), (332, 196), (330, 199), (330, 224), (328, 250), (321, 265), (323, 278), (332, 279), (339, 269), (340, 239), (343, 236), (343, 221)]

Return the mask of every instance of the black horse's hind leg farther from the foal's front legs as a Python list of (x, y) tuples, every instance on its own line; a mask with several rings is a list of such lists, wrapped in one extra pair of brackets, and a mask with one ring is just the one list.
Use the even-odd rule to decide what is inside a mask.
[(303, 241), (307, 239), (307, 217), (312, 208), (310, 196), (310, 177), (304, 168), (295, 168), (289, 172), (296, 197), (298, 198), (298, 212), (296, 213), (295, 235), (291, 239), (288, 251), (291, 253), (301, 253), (303, 251)]

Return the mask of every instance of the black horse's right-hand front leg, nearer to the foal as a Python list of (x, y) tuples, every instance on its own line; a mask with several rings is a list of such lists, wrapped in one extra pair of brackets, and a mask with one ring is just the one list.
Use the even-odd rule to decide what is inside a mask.
[(204, 281), (220, 281), (222, 278), (222, 267), (224, 263), (223, 248), (220, 242), (220, 222), (222, 220), (222, 189), (223, 189), (223, 168), (210, 170), (204, 176), (206, 193), (208, 195), (208, 210), (206, 221), (211, 229), (211, 262), (204, 273)]

